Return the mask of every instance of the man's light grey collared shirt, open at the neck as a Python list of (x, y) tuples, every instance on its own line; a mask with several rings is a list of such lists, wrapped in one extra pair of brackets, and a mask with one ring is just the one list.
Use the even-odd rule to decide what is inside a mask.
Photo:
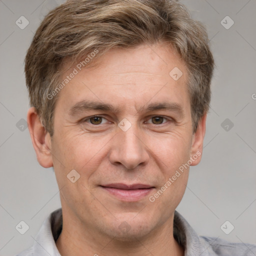
[[(44, 220), (33, 246), (17, 256), (60, 256), (55, 241), (61, 229), (62, 210), (59, 208)], [(256, 245), (198, 236), (177, 211), (174, 213), (173, 235), (185, 249), (185, 256), (256, 256)]]

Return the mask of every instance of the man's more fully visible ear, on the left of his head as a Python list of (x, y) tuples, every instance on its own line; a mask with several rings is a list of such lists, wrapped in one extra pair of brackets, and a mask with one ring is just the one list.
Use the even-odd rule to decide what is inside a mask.
[(27, 111), (27, 123), (37, 161), (44, 168), (52, 167), (50, 135), (42, 126), (35, 107)]

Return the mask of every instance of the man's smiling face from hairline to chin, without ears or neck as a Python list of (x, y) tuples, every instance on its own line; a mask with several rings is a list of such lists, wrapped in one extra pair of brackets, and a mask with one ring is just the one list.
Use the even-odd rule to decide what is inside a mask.
[[(169, 75), (174, 67), (183, 73), (177, 80)], [(188, 168), (172, 176), (198, 149), (184, 63), (169, 48), (141, 45), (113, 49), (98, 65), (75, 68), (58, 92), (50, 142), (63, 214), (86, 230), (120, 239), (172, 223)], [(77, 104), (92, 101), (113, 109)], [(67, 178), (73, 169), (80, 175), (76, 180), (71, 172), (75, 182)]]

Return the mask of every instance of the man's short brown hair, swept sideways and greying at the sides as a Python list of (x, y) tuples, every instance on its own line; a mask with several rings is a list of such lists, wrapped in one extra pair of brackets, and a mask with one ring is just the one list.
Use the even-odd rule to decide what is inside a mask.
[(57, 97), (47, 95), (59, 83), (64, 58), (77, 61), (96, 49), (96, 59), (113, 47), (156, 42), (171, 45), (187, 66), (195, 131), (209, 108), (214, 63), (204, 26), (174, 0), (67, 0), (44, 17), (25, 57), (25, 76), (46, 131), (53, 135)]

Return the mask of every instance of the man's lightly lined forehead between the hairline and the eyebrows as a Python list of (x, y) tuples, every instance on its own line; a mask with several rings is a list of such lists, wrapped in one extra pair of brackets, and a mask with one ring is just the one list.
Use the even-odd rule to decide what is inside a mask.
[(79, 63), (70, 66), (67, 61), (62, 68), (66, 71), (60, 80), (70, 80), (61, 89), (58, 101), (69, 108), (86, 98), (112, 105), (121, 103), (124, 108), (129, 102), (141, 108), (151, 99), (174, 103), (188, 100), (186, 66), (170, 47), (158, 44), (115, 48), (99, 57), (96, 65), (81, 68)]

